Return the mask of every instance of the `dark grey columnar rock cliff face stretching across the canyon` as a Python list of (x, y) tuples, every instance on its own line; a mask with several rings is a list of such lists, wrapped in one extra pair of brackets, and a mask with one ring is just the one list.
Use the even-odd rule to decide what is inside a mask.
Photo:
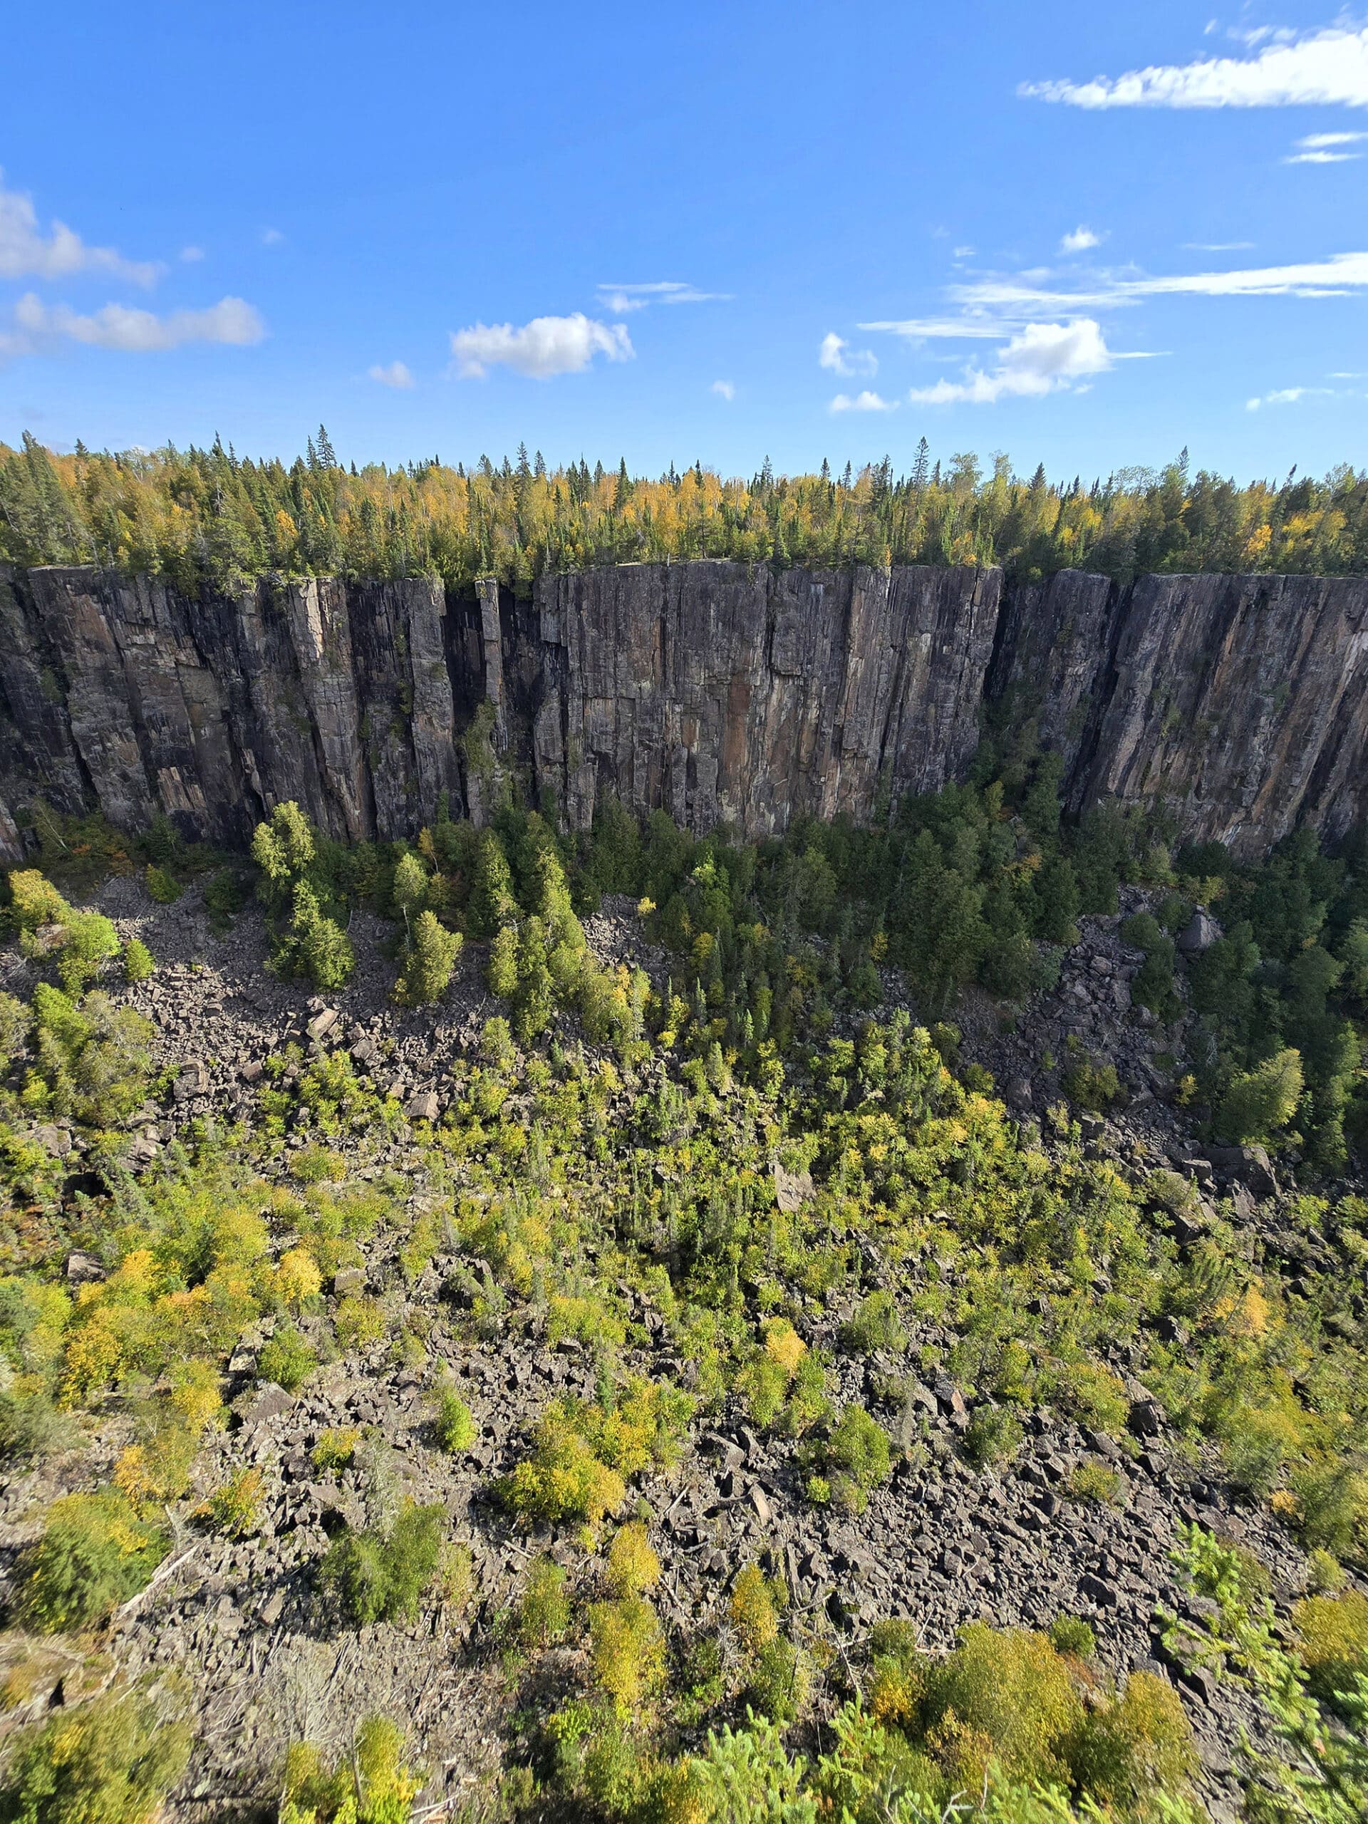
[(576, 826), (617, 792), (764, 835), (963, 777), (985, 717), (1034, 720), (1076, 808), (1162, 797), (1253, 852), (1368, 814), (1366, 673), (1357, 578), (704, 562), (545, 576), (531, 602), (429, 578), (190, 602), (0, 567), (0, 852), (35, 795), (219, 843), (297, 799), (396, 837), (441, 793), (480, 815), (514, 768)]

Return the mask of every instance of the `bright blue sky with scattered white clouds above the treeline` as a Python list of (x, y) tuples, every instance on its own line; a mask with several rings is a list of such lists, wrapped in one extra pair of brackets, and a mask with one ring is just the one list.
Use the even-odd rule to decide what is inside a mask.
[(0, 441), (1368, 467), (1368, 13), (67, 0), (0, 55)]

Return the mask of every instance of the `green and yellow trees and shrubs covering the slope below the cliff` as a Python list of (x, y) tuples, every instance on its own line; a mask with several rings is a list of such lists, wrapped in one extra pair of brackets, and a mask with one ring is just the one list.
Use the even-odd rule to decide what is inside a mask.
[[(461, 1653), (507, 1718), (500, 1771), (456, 1811), (420, 1798), (430, 1769), (394, 1713), (356, 1718), (347, 1753), (295, 1738), (261, 1817), (1197, 1824), (1193, 1689), (1240, 1694), (1251, 1819), (1363, 1817), (1361, 841), (1235, 863), (1142, 812), (1071, 826), (1049, 755), (985, 748), (970, 782), (886, 828), (803, 823), (764, 845), (611, 801), (567, 837), (511, 795), (482, 830), (440, 812), (398, 845), (328, 841), (283, 804), (250, 857), (49, 815), (31, 846), (4, 888), (29, 990), (0, 996), (0, 1445), (11, 1474), (67, 1468), (11, 1554), (0, 1817), (113, 1824), (181, 1791), (186, 1693), (164, 1669), (120, 1676), (106, 1631), (188, 1545), (263, 1534), (279, 1470), (237, 1454), (254, 1434), (224, 1406), (248, 1335), (268, 1394), (348, 1363), (427, 1390), (403, 1461), (374, 1426), (312, 1437), (310, 1474), (365, 1512), (303, 1558), (301, 1612), (372, 1649), (465, 1618)], [(368, 914), (396, 1005), (440, 1009), (474, 956), (496, 1010), (445, 1107), (405, 1109), (356, 1051), (283, 1047), (248, 1122), (184, 1122), (135, 1171), (130, 1116), (150, 1096), (173, 1109), (175, 1073), (130, 1003), (159, 958), (84, 903), (111, 876), (151, 907), (195, 897), (224, 932), (263, 919), (268, 970), (301, 994), (345, 990)], [(593, 952), (606, 903), (635, 905), (655, 976)], [(1220, 936), (1184, 959), (1197, 908)], [(1032, 1122), (967, 1062), (965, 998), (1021, 1018), (1096, 917), (1138, 959), (1133, 1007), (1184, 1032), (1164, 1102), (1198, 1140), (1277, 1162), (1290, 1255), (1255, 1253), (1248, 1211), (1202, 1204), (1166, 1156), (1098, 1144), (1129, 1094), (1105, 1054), (1071, 1049)], [(55, 1133), (82, 1140), (73, 1184)], [(808, 1191), (779, 1198), (779, 1167)], [(452, 1364), (538, 1346), (591, 1383), (498, 1441), (513, 1454), (480, 1510), (527, 1539), (525, 1574), (482, 1600), (469, 1536), (405, 1476), (480, 1445)], [(1036, 1474), (1031, 1437), (1062, 1426), (1091, 1454), (1049, 1499), (1122, 1507), (1145, 1434), (1118, 1348), (1151, 1454), (1162, 1430), (1304, 1567), (1275, 1611), (1251, 1549), (1178, 1525), (1182, 1594), (1155, 1629), (1184, 1700), (1158, 1671), (1109, 1673), (1096, 1618), (979, 1620), (932, 1649), (839, 1592), (801, 1607), (755, 1558), (722, 1563), (710, 1622), (666, 1618), (671, 1536), (640, 1490), (719, 1426), (751, 1428), (803, 1510), (855, 1525), (938, 1465), (990, 1488)], [(969, 1401), (948, 1443), (916, 1404), (938, 1375)], [(73, 1702), (35, 1716), (53, 1643), (108, 1676), (75, 1702), (69, 1673)]]

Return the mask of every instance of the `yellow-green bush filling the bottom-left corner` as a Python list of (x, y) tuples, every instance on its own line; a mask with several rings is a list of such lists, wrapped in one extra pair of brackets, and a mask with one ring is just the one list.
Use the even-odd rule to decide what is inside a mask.
[(22, 1729), (0, 1775), (13, 1824), (153, 1824), (190, 1760), (190, 1729), (137, 1691), (62, 1707)]

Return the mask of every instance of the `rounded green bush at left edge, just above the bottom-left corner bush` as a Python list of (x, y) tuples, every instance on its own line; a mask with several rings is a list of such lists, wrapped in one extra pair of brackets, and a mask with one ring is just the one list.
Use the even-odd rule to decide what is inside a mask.
[(166, 1550), (120, 1490), (62, 1496), (24, 1554), (20, 1611), (47, 1632), (93, 1627), (144, 1589)]

